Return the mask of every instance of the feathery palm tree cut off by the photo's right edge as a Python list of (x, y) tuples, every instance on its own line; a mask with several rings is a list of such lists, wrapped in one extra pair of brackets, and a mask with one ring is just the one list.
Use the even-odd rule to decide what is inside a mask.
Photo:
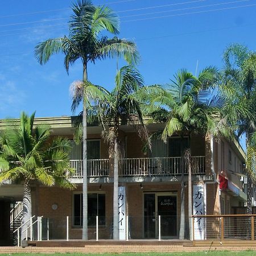
[(255, 178), (250, 160), (256, 132), (256, 53), (240, 44), (232, 44), (224, 52), (224, 63), (220, 92), (225, 94), (226, 104), (222, 118), (233, 127), (238, 138), (241, 135), (246, 138), (247, 214), (251, 214), (251, 179)]

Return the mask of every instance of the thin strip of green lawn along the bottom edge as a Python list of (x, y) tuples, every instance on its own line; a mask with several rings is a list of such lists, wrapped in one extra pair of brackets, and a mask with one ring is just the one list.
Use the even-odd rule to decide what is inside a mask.
[[(11, 254), (0, 254), (0, 256), (6, 256), (6, 255), (13, 255), (15, 256), (27, 256), (28, 254), (30, 256), (38, 256), (39, 253), (11, 253)], [(256, 255), (256, 251), (201, 251), (201, 252), (194, 252), (194, 253), (104, 253), (104, 254), (82, 254), (82, 253), (55, 253), (55, 254), (45, 254), (45, 253), (40, 253), (40, 256), (102, 256), (102, 255), (122, 255), (122, 256), (164, 256), (164, 255), (172, 255), (172, 256), (189, 256), (189, 255), (196, 255), (196, 256), (203, 256), (203, 255), (209, 255), (209, 256), (216, 256), (216, 255), (221, 255), (221, 256), (250, 256), (250, 255)]]

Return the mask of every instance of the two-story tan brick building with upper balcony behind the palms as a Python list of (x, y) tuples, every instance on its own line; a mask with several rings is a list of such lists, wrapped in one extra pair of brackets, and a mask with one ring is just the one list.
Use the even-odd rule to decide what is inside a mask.
[[(48, 123), (52, 136), (73, 139), (72, 117), (36, 118), (36, 124)], [(0, 122), (0, 126), (4, 124)], [(151, 133), (163, 129), (161, 123), (150, 123)], [(161, 216), (161, 236), (179, 238), (181, 192), (181, 138), (168, 138), (167, 143), (152, 141), (152, 150), (144, 152), (143, 143), (133, 126), (121, 125), (122, 157), (119, 160), (119, 186), (125, 189), (131, 239), (157, 238), (158, 216)], [(191, 145), (192, 184), (203, 187), (205, 214), (233, 213), (242, 207), (246, 175), (243, 171), (245, 154), (235, 143), (222, 138), (186, 137)], [(32, 184), (32, 214), (48, 222), (49, 239), (65, 239), (69, 216), (69, 239), (81, 239), (82, 232), (82, 147), (72, 141), (71, 180), (74, 191), (59, 187)], [(22, 200), (22, 184), (1, 184), (0, 203)], [(192, 197), (193, 198), (193, 197)], [(195, 203), (195, 202), (194, 202)], [(6, 206), (6, 208), (7, 208)], [(195, 212), (194, 212), (195, 213)], [(89, 239), (96, 238), (98, 216), (99, 238), (112, 238), (113, 225), (113, 164), (109, 147), (101, 138), (100, 126), (88, 127), (88, 225)], [(1, 218), (0, 218), (1, 220)], [(6, 218), (5, 218), (6, 220)], [(185, 223), (188, 229), (188, 175), (185, 174)], [(44, 229), (43, 229), (44, 230)], [(43, 231), (43, 238), (47, 234)]]

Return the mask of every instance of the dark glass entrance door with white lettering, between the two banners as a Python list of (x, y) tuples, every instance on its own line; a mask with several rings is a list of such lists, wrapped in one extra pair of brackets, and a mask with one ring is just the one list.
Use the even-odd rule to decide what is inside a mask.
[(177, 197), (174, 193), (144, 193), (144, 238), (158, 237), (158, 216), (161, 216), (161, 237), (177, 237)]

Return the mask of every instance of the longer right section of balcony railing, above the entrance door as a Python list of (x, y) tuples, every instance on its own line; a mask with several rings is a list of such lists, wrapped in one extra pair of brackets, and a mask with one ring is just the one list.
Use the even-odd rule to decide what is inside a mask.
[[(205, 156), (192, 156), (193, 174), (205, 174)], [(187, 174), (187, 168), (185, 174)], [(120, 159), (122, 176), (173, 176), (181, 174), (181, 157)]]

